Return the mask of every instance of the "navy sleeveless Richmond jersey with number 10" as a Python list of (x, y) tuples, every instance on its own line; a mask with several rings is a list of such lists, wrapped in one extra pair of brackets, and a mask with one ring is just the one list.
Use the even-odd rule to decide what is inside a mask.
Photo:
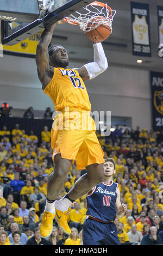
[(91, 215), (104, 222), (114, 221), (116, 217), (117, 188), (118, 184), (113, 181), (110, 185), (102, 182), (95, 186), (91, 193), (86, 196), (86, 215)]

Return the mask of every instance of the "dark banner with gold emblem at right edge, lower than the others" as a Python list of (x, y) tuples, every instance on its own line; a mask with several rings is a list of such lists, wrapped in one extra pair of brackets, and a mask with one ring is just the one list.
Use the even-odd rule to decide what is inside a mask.
[(163, 73), (151, 71), (152, 123), (154, 131), (163, 129)]

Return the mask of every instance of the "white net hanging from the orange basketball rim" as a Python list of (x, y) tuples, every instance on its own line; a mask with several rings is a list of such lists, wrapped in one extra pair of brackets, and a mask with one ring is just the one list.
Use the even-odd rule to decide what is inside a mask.
[(65, 17), (64, 21), (71, 25), (79, 25), (84, 32), (92, 31), (99, 25), (109, 26), (112, 32), (112, 20), (115, 14), (116, 10), (112, 10), (108, 4), (95, 1)]

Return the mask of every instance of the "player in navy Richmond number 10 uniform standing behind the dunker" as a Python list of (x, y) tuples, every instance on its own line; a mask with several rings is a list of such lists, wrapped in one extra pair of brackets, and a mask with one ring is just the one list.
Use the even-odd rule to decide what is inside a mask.
[(115, 172), (114, 159), (105, 159), (103, 182), (86, 196), (89, 217), (83, 224), (83, 245), (120, 245), (114, 220), (124, 216), (127, 206), (121, 204), (120, 188), (112, 181)]

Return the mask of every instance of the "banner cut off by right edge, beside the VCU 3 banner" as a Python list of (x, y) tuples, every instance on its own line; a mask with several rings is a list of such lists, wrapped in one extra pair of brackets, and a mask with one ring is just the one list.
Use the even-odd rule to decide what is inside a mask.
[[(159, 45), (160, 45), (160, 44), (163, 44), (163, 6), (157, 6), (157, 8), (158, 8), (158, 38), (159, 38)], [(159, 57), (161, 58), (163, 57), (163, 54), (161, 54), (161, 52), (159, 54)]]

